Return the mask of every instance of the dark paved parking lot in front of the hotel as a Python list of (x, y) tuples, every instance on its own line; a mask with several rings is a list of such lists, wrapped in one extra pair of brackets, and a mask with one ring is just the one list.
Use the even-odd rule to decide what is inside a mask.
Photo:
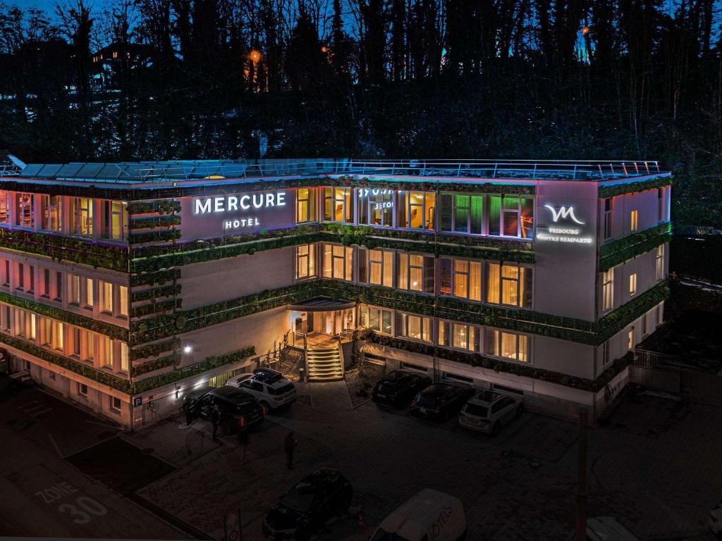
[[(220, 540), (223, 517), (240, 512), (241, 539), (260, 540), (269, 506), (318, 467), (343, 472), (355, 491), (354, 512), (328, 524), (319, 541), (367, 540), (388, 512), (425, 487), (461, 498), (470, 540), (571, 538), (575, 423), (526, 412), (491, 437), (453, 418), (432, 423), (405, 410), (345, 403), (296, 403), (268, 415), (245, 440), (213, 441), (208, 422), (183, 428), (181, 418), (172, 419), (103, 439), (63, 462), (181, 532), (155, 535), (159, 539)], [(707, 517), (722, 498), (721, 421), (722, 408), (628, 395), (606, 426), (589, 430), (590, 516), (616, 516), (644, 541), (713, 540)], [(42, 419), (33, 425), (38, 445), (43, 427)], [(299, 442), (293, 470), (285, 467), (283, 449), (289, 430)]]

